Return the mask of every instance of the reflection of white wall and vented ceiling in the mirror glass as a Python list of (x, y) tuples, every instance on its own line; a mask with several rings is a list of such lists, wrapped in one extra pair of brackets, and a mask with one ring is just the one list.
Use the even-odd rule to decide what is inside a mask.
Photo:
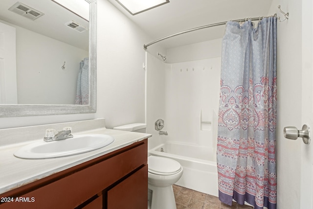
[(51, 0), (1, 0), (0, 19), (16, 30), (16, 53), (5, 58), (16, 60), (16, 80), (5, 80), (16, 83), (17, 92), (6, 90), (16, 99), (2, 104), (75, 104), (89, 22)]

